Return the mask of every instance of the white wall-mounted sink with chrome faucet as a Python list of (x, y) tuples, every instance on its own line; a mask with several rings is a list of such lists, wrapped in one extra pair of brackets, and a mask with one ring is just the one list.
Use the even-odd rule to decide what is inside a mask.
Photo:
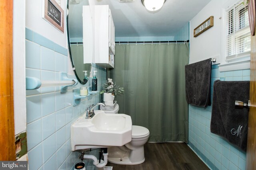
[(132, 119), (125, 114), (96, 110), (91, 119), (85, 114), (71, 125), (72, 150), (123, 146), (132, 140)]

